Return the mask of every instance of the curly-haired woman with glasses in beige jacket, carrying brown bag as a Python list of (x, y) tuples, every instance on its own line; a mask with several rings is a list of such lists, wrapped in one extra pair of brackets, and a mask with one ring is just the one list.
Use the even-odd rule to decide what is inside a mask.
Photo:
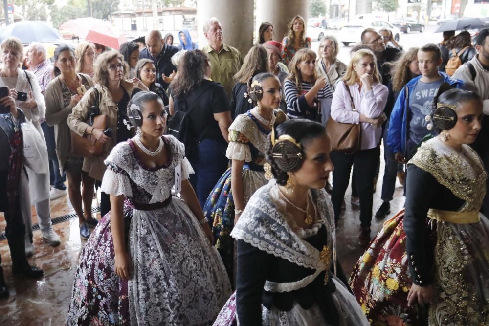
[[(89, 89), (67, 118), (68, 127), (79, 136), (90, 134), (97, 141), (104, 144), (104, 153), (100, 157), (90, 156), (83, 160), (82, 171), (89, 177), (102, 181), (106, 166), (104, 160), (112, 148), (133, 137), (124, 120), (129, 118), (126, 114), (127, 105), (131, 99), (133, 88), (148, 90), (148, 87), (134, 78), (133, 82), (126, 81), (129, 74), (129, 65), (118, 51), (111, 50), (100, 54), (95, 62), (94, 87)], [(87, 124), (91, 107), (96, 106), (100, 114), (107, 115), (107, 130), (94, 128)], [(100, 216), (104, 216), (111, 209), (109, 195), (102, 192), (100, 198)]]

